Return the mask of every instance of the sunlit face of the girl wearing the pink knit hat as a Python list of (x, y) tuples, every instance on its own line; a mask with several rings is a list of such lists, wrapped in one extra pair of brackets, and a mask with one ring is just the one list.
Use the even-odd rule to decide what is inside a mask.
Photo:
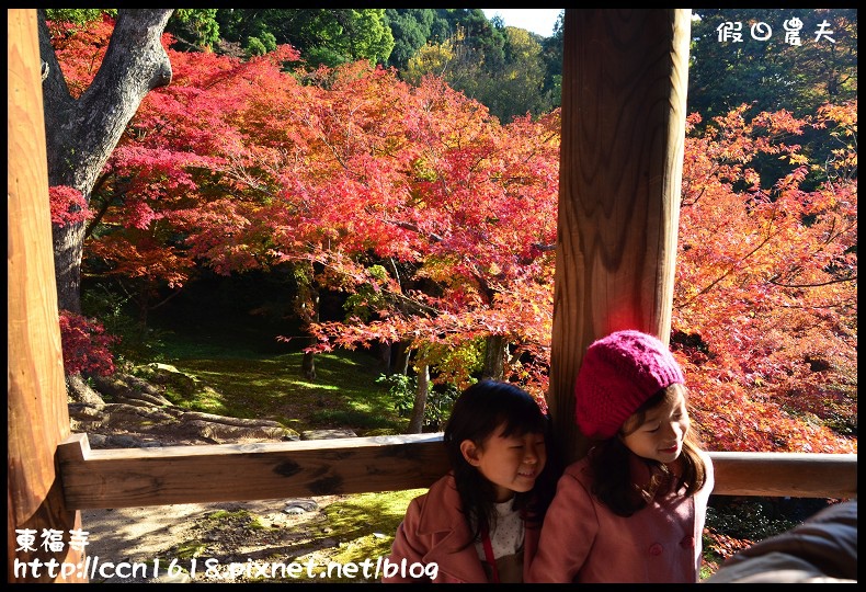
[(690, 425), (683, 389), (675, 389), (672, 396), (648, 409), (642, 423), (630, 425), (636, 419), (636, 415), (631, 415), (626, 420), (625, 428), (629, 431), (619, 436), (629, 451), (642, 458), (665, 464), (680, 457)]

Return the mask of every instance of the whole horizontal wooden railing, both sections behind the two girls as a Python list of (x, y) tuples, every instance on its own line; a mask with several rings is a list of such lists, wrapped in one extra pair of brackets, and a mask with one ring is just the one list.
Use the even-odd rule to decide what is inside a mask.
[[(856, 454), (709, 455), (715, 494), (857, 494)], [(72, 434), (58, 457), (70, 510), (426, 488), (448, 470), (441, 433), (98, 451)]]

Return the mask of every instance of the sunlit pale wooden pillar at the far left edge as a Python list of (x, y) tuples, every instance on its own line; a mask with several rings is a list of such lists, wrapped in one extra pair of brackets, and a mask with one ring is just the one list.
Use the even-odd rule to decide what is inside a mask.
[[(77, 565), (84, 554), (68, 546), (69, 531), (81, 527), (81, 513), (64, 505), (55, 454), (70, 429), (54, 281), (36, 10), (9, 9), (7, 15), (8, 581), (87, 582), (78, 569), (59, 576), (59, 563)], [(61, 533), (62, 550), (41, 547), (46, 528)], [(23, 542), (19, 530), (33, 532), (35, 551), (16, 550)], [(58, 563), (55, 576), (37, 563), (52, 559)]]

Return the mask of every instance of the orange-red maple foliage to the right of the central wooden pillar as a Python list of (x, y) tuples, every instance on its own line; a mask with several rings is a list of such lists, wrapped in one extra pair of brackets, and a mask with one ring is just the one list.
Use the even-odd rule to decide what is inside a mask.
[[(711, 449), (856, 452), (825, 426), (856, 430), (856, 179), (802, 190), (798, 147), (765, 138), (809, 122), (743, 112), (686, 139), (673, 326), (694, 417)], [(856, 129), (856, 103), (833, 113), (816, 125)], [(764, 189), (767, 153), (795, 164)]]

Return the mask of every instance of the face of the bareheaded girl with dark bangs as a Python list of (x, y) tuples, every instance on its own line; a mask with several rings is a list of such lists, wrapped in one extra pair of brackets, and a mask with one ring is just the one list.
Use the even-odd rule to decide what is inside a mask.
[(480, 446), (471, 440), (460, 443), (466, 462), (493, 483), (498, 503), (510, 500), (515, 492), (529, 491), (547, 462), (544, 434), (503, 436), (504, 429), (500, 425)]

